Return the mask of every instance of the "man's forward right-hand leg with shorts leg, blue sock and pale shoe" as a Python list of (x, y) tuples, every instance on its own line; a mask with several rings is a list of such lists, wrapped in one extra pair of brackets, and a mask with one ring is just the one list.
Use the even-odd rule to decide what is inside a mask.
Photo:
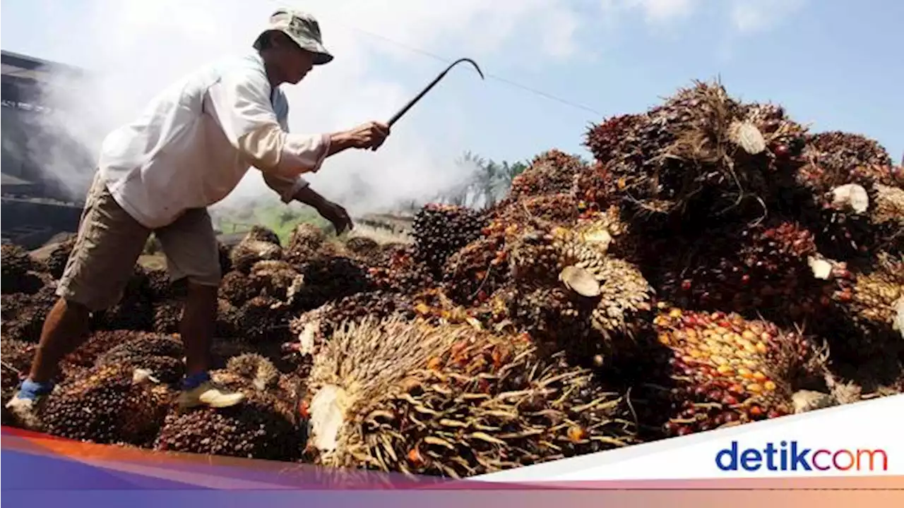
[(174, 281), (184, 278), (188, 282), (188, 295), (179, 324), (187, 374), (179, 404), (184, 408), (234, 406), (244, 400), (244, 396), (213, 386), (208, 373), (221, 278), (220, 252), (211, 217), (204, 209), (191, 210), (157, 230), (155, 235), (166, 255), (170, 278)]

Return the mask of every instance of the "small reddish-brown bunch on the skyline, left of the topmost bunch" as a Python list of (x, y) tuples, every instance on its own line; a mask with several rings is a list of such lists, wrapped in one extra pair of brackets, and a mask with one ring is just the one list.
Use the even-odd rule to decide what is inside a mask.
[(537, 155), (522, 174), (515, 176), (504, 205), (544, 194), (570, 193), (575, 176), (587, 170), (578, 156), (552, 149)]

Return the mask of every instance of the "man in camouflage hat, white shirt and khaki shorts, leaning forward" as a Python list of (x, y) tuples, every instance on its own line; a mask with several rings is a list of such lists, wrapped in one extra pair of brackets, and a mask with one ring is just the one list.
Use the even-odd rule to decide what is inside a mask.
[(313, 206), (337, 232), (352, 227), (343, 207), (301, 178), (348, 148), (376, 149), (389, 135), (378, 122), (314, 136), (289, 134), (282, 83), (296, 84), (333, 60), (309, 14), (278, 10), (256, 52), (193, 72), (153, 99), (134, 123), (101, 147), (79, 233), (47, 316), (29, 377), (6, 407), (23, 416), (52, 391), (58, 364), (82, 343), (91, 312), (114, 305), (153, 231), (174, 281), (188, 293), (180, 324), (186, 377), (179, 405), (228, 407), (238, 392), (210, 380), (210, 346), (221, 270), (207, 207), (250, 166), (283, 202)]

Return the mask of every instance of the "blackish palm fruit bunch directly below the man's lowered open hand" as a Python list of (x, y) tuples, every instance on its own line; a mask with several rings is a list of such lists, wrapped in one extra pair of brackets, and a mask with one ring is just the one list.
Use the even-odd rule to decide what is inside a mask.
[(292, 307), (309, 310), (372, 287), (368, 268), (350, 258), (311, 259), (298, 268), (304, 284), (293, 292)]

